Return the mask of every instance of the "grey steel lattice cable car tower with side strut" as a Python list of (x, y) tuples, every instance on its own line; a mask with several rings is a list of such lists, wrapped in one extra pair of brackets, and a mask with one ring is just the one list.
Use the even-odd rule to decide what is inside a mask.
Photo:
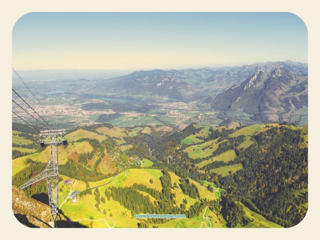
[(58, 146), (67, 145), (67, 140), (63, 137), (66, 135), (64, 129), (61, 130), (45, 130), (40, 131), (40, 137), (42, 140), (39, 141), (41, 147), (50, 145), (51, 156), (47, 167), (43, 172), (40, 172), (34, 178), (20, 186), (20, 189), (30, 186), (44, 178), (47, 179), (48, 185), (48, 196), (50, 204), (50, 214), (55, 225), (55, 221), (58, 216), (58, 182), (59, 182), (59, 166), (58, 166)]

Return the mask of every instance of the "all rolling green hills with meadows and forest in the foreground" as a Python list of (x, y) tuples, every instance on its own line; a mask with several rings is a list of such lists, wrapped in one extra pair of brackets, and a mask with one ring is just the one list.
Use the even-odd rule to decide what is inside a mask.
[[(63, 180), (72, 180), (70, 185), (59, 182), (60, 210), (71, 221), (92, 228), (137, 228), (141, 222), (148, 222), (150, 228), (281, 228), (280, 225), (287, 227), (296, 221), (288, 216), (298, 212), (298, 217), (302, 219), (308, 208), (308, 182), (305, 180), (308, 177), (308, 164), (307, 149), (304, 148), (308, 146), (308, 126), (284, 125), (289, 128), (286, 129), (278, 124), (269, 124), (271, 125), (276, 127), (265, 127), (265, 124), (240, 129), (221, 126), (213, 128), (219, 131), (211, 132), (209, 126), (190, 124), (179, 132), (172, 128), (167, 131), (169, 134), (164, 134), (161, 130), (156, 131), (152, 126), (130, 126), (132, 131), (129, 128), (105, 126), (90, 130), (103, 135), (78, 129), (66, 135), (69, 142), (67, 148), (58, 147), (60, 173), (65, 174), (60, 177)], [(98, 126), (101, 125), (96, 127)], [(225, 132), (226, 130), (230, 131)], [(14, 132), (18, 133), (20, 134)], [(129, 138), (126, 138), (127, 136)], [(196, 138), (197, 136), (215, 139), (204, 142)], [(110, 137), (117, 139), (112, 140)], [(95, 140), (76, 142), (82, 138)], [(218, 142), (219, 140), (221, 141)], [(194, 145), (185, 148), (184, 144)], [(35, 162), (47, 163), (50, 147), (38, 152), (40, 149), (14, 146), (13, 150), (34, 152), (12, 160), (12, 182), (17, 186), (26, 176), (29, 178), (36, 174), (35, 169), (39, 171), (40, 167), (44, 167), (44, 164), (26, 164), (26, 160), (30, 158)], [(184, 154), (181, 154), (181, 151)], [(284, 157), (280, 159), (279, 156)], [(279, 157), (279, 164), (282, 164), (280, 167), (273, 168), (272, 161), (275, 161), (275, 157)], [(284, 161), (286, 157), (290, 164), (301, 166), (301, 170), (294, 172), (291, 165)], [(68, 159), (73, 161), (68, 162)], [(68, 167), (72, 168), (71, 173), (68, 172)], [(23, 169), (25, 170), (20, 172)], [(252, 172), (251, 169), (257, 171)], [(297, 188), (291, 191), (291, 195), (285, 195), (286, 192), (278, 191), (283, 186), (279, 183), (280, 180), (276, 183), (270, 181), (270, 176), (280, 178), (274, 174), (276, 171), (292, 174), (288, 175), (290, 178), (285, 179), (285, 183), (291, 184), (299, 180), (301, 185), (296, 184)], [(66, 176), (68, 174), (74, 178)], [(230, 174), (234, 175), (229, 176)], [(260, 179), (263, 181), (259, 182)], [(86, 194), (86, 184), (94, 188), (92, 194)], [(268, 187), (271, 184), (274, 186)], [(261, 196), (264, 196), (261, 198), (257, 194), (260, 188), (263, 193)], [(100, 192), (98, 205), (93, 194), (95, 189), (99, 189)], [(251, 189), (254, 194), (246, 196), (247, 189)], [(45, 181), (25, 190), (29, 196), (45, 194)], [(68, 197), (73, 191), (81, 191), (75, 203)], [(274, 191), (272, 195), (288, 199), (290, 202), (284, 202), (284, 205), (290, 206), (284, 208), (272, 201), (264, 202), (268, 197), (272, 197), (269, 194), (271, 191)], [(242, 198), (243, 196), (245, 198)], [(245, 203), (252, 209), (259, 206), (259, 211), (254, 212), (244, 204), (236, 202), (239, 199), (246, 199), (241, 200), (243, 202), (248, 200)], [(228, 212), (226, 206), (228, 209), (233, 208), (232, 212)], [(261, 206), (272, 206), (272, 214), (268, 216), (266, 213), (269, 213), (270, 209), (262, 209)], [(182, 211), (190, 217), (162, 223), (161, 220), (150, 223), (132, 217), (132, 214), (147, 213), (142, 211), (155, 209)], [(276, 215), (273, 209), (282, 213), (287, 211), (289, 214)], [(241, 217), (233, 219), (232, 216), (237, 214), (241, 214)]]

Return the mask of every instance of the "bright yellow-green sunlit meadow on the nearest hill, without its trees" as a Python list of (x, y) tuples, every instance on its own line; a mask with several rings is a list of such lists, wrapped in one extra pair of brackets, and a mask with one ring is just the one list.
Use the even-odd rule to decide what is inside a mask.
[[(143, 184), (147, 186), (148, 188), (155, 188), (158, 191), (162, 190), (160, 177), (162, 176), (162, 172), (157, 169), (128, 169), (121, 173), (119, 173), (109, 184), (99, 187), (100, 196), (104, 196), (104, 192), (107, 188), (111, 186), (115, 187), (126, 187), (126, 186), (132, 186), (134, 183)], [(174, 183), (179, 183), (180, 177), (175, 175), (174, 173), (170, 172), (170, 176), (172, 179), (172, 186)], [(61, 176), (63, 179), (69, 179), (66, 176)], [(101, 184), (105, 184), (109, 182), (111, 178), (104, 179), (97, 182), (89, 182), (89, 185), (91, 188), (99, 186)], [(150, 183), (150, 179), (153, 180), (153, 183)], [(194, 183), (197, 188), (199, 189), (201, 198), (207, 198), (207, 199), (217, 199), (219, 198), (219, 192), (221, 189), (218, 189), (213, 183), (212, 184), (216, 189), (217, 192), (211, 193), (206, 189), (206, 186), (201, 186), (199, 183), (191, 180), (192, 183)], [(209, 183), (207, 183), (209, 184)], [(61, 188), (62, 182), (59, 183), (59, 186)], [(105, 203), (100, 203), (100, 209), (103, 212), (106, 210), (107, 215), (104, 215), (102, 212), (98, 211), (98, 209), (94, 206), (95, 196), (92, 195), (85, 195), (82, 197), (78, 197), (78, 201), (76, 203), (73, 203), (71, 199), (68, 199), (65, 201), (65, 197), (68, 196), (70, 189), (72, 191), (83, 191), (85, 189), (85, 182), (83, 181), (77, 181), (74, 180), (74, 182), (68, 186), (63, 186), (62, 191), (59, 193), (59, 206), (61, 206), (61, 210), (64, 213), (66, 217), (68, 217), (72, 221), (81, 221), (81, 224), (93, 227), (93, 228), (108, 228), (108, 227), (115, 227), (115, 228), (136, 228), (138, 220), (133, 218), (131, 216), (131, 211), (125, 208), (124, 206), (120, 205), (118, 202), (114, 201), (112, 198)], [(92, 190), (94, 191), (94, 190)], [(141, 193), (141, 191), (138, 191)], [(187, 209), (195, 204), (196, 202), (199, 202), (199, 199), (193, 199), (189, 196), (183, 194), (183, 192), (178, 190), (177, 188), (172, 189), (172, 192), (176, 193), (176, 201), (177, 205), (180, 205), (182, 203), (183, 199), (187, 199)], [(149, 194), (142, 192), (141, 193), (144, 196), (148, 196), (152, 202), (155, 200), (152, 196)], [(112, 216), (110, 216), (110, 213)], [(203, 215), (209, 216), (210, 220), (206, 220), (203, 218)], [(172, 222), (171, 222), (172, 221)], [(201, 212), (199, 214), (199, 217), (191, 218), (191, 219), (177, 219), (177, 220), (171, 220), (166, 224), (152, 224), (159, 227), (164, 228), (170, 228), (174, 226), (181, 226), (181, 227), (195, 227), (199, 228), (202, 225), (202, 221), (206, 222), (206, 225), (210, 227), (210, 222), (212, 227), (225, 227), (225, 221), (218, 220), (216, 214), (210, 211), (210, 209), (205, 209), (205, 212)], [(210, 221), (210, 222), (209, 222)], [(217, 221), (217, 223), (215, 223)]]

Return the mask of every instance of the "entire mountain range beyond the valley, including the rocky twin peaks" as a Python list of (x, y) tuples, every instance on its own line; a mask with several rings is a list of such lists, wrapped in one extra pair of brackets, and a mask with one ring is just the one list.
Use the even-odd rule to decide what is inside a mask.
[(243, 110), (254, 121), (282, 121), (306, 115), (308, 64), (287, 60), (240, 67), (135, 71), (100, 79), (86, 91), (148, 100), (202, 101), (216, 110)]

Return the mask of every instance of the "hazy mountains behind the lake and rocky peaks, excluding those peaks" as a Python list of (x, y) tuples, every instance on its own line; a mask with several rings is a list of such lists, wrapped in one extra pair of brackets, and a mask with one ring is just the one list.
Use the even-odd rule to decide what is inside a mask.
[[(199, 100), (205, 95), (216, 95), (229, 87), (242, 83), (252, 76), (257, 68), (271, 72), (283, 68), (297, 76), (308, 74), (308, 65), (290, 60), (255, 63), (241, 67), (199, 68), (182, 70), (135, 71), (129, 75), (108, 78), (96, 82), (91, 90), (133, 97), (160, 96), (173, 100)], [(212, 94), (213, 93), (213, 94)]]

